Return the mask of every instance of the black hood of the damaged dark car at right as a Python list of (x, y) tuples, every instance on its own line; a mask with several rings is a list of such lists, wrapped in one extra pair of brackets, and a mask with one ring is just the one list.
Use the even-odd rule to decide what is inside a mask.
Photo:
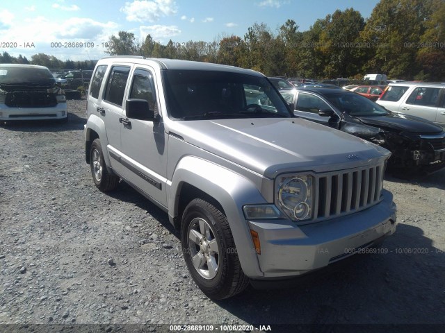
[(380, 128), (392, 129), (401, 132), (418, 134), (442, 133), (442, 127), (431, 121), (408, 114), (391, 113), (381, 117), (357, 117), (366, 125), (378, 126)]

